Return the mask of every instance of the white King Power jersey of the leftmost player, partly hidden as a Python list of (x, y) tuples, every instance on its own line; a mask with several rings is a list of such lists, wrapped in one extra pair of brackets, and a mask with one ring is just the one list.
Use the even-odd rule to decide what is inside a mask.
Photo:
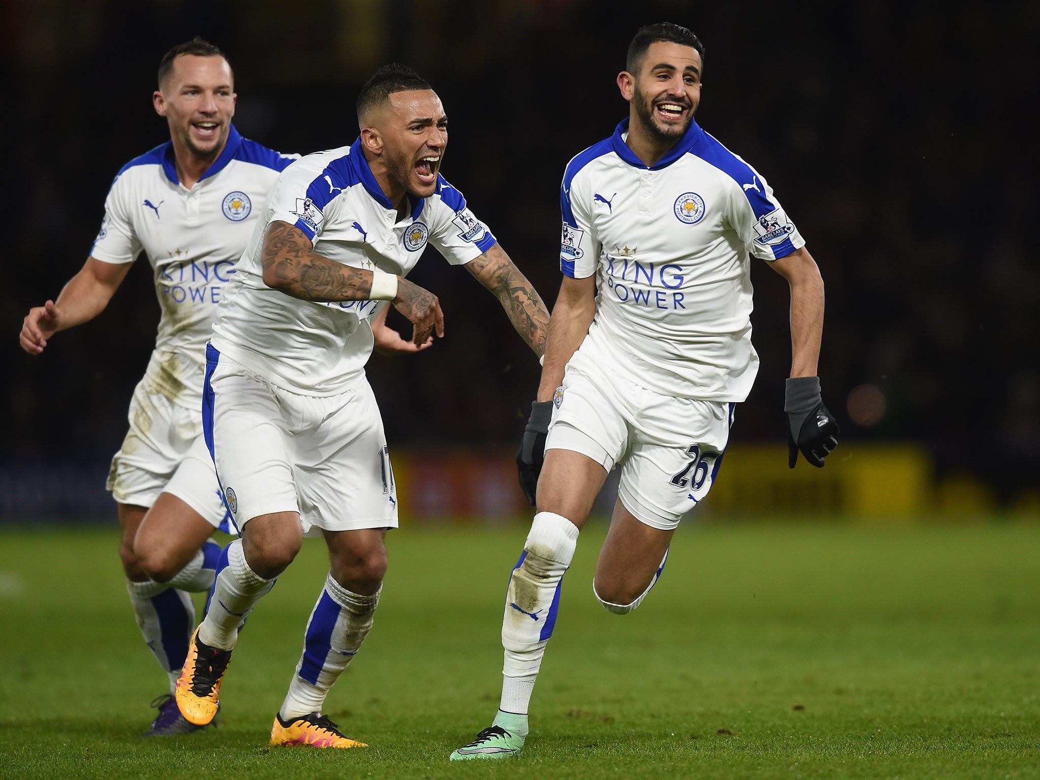
[(267, 190), (300, 155), (281, 155), (231, 127), (228, 144), (188, 189), (177, 179), (172, 141), (120, 171), (105, 200), (90, 257), (132, 263), (145, 252), (162, 317), (145, 379), (181, 406), (202, 402), (206, 341)]

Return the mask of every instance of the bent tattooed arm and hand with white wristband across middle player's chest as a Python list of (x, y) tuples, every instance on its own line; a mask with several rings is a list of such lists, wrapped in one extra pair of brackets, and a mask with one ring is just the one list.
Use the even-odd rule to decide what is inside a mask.
[[(372, 271), (319, 255), (304, 232), (288, 223), (276, 220), (267, 226), (261, 257), (263, 283), (286, 295), (322, 303), (372, 300)], [(412, 343), (416, 346), (425, 343), (435, 329), (443, 336), (444, 314), (437, 296), (404, 277), (395, 279), (392, 298), (376, 294), (374, 300), (392, 300), (397, 311), (412, 321)]]

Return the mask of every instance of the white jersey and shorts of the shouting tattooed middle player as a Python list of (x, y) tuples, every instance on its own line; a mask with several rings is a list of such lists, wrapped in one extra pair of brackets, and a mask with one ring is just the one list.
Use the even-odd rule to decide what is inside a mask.
[(272, 222), (296, 227), (336, 262), (399, 276), (427, 244), (462, 265), (495, 237), (440, 177), (436, 192), (412, 199), (398, 219), (358, 140), (308, 155), (279, 177), (225, 290), (204, 416), (236, 523), (296, 512), (312, 535), (396, 526), (383, 421), (364, 370), (368, 319), (381, 304), (315, 303), (267, 287), (261, 253)]

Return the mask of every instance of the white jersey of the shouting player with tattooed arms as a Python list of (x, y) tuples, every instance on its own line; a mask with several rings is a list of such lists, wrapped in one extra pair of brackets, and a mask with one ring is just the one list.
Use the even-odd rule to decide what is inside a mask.
[(468, 263), (495, 237), (466, 207), (462, 193), (438, 177), (437, 191), (411, 203), (398, 222), (358, 139), (307, 155), (278, 177), (263, 217), (225, 290), (212, 344), (220, 353), (291, 392), (333, 395), (364, 375), (372, 350), (368, 318), (379, 301), (316, 303), (290, 297), (263, 282), (267, 225), (285, 222), (314, 251), (355, 268), (407, 275), (427, 242), (453, 265)]

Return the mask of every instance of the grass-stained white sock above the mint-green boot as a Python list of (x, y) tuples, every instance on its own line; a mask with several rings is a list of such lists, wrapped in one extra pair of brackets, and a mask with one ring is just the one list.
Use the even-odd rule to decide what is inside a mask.
[(566, 517), (551, 512), (535, 516), (505, 596), (500, 710), (527, 712), (545, 646), (556, 624), (564, 572), (574, 556), (577, 539), (577, 526)]

